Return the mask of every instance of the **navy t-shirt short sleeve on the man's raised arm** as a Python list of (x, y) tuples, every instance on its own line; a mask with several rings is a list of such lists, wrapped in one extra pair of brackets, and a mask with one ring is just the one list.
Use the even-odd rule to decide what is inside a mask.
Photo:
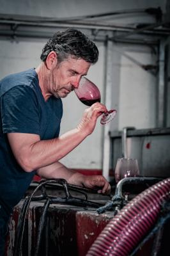
[(40, 134), (40, 113), (33, 88), (15, 86), (1, 97), (3, 132)]

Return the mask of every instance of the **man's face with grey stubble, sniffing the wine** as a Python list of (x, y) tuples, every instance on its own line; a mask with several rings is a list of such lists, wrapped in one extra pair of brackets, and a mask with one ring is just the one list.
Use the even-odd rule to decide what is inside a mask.
[(79, 86), (82, 76), (88, 73), (90, 64), (82, 59), (75, 60), (71, 57), (62, 61), (52, 69), (50, 93), (56, 98), (65, 98)]

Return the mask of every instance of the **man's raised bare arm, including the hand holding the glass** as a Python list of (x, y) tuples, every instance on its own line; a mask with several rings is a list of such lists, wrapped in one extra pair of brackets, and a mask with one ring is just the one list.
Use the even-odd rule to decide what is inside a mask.
[(13, 154), (26, 172), (32, 172), (66, 156), (95, 129), (98, 116), (106, 112), (103, 104), (96, 102), (85, 109), (77, 128), (52, 140), (40, 140), (37, 134), (8, 133)]

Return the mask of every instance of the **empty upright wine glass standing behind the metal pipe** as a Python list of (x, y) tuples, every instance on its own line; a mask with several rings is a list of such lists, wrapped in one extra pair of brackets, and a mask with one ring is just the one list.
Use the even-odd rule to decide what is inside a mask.
[(139, 166), (135, 158), (118, 158), (114, 177), (116, 183), (123, 178), (139, 175)]

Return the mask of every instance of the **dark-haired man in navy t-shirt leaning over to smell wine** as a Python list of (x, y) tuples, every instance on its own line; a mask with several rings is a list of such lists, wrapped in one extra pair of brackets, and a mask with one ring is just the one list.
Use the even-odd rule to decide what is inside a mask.
[(50, 38), (41, 60), (36, 69), (12, 74), (0, 83), (0, 255), (12, 209), (35, 173), (44, 179), (99, 187), (99, 193), (110, 190), (104, 177), (82, 175), (59, 163), (93, 132), (98, 116), (107, 111), (103, 104), (93, 104), (75, 129), (59, 136), (61, 98), (77, 88), (97, 62), (97, 46), (81, 31), (67, 29)]

